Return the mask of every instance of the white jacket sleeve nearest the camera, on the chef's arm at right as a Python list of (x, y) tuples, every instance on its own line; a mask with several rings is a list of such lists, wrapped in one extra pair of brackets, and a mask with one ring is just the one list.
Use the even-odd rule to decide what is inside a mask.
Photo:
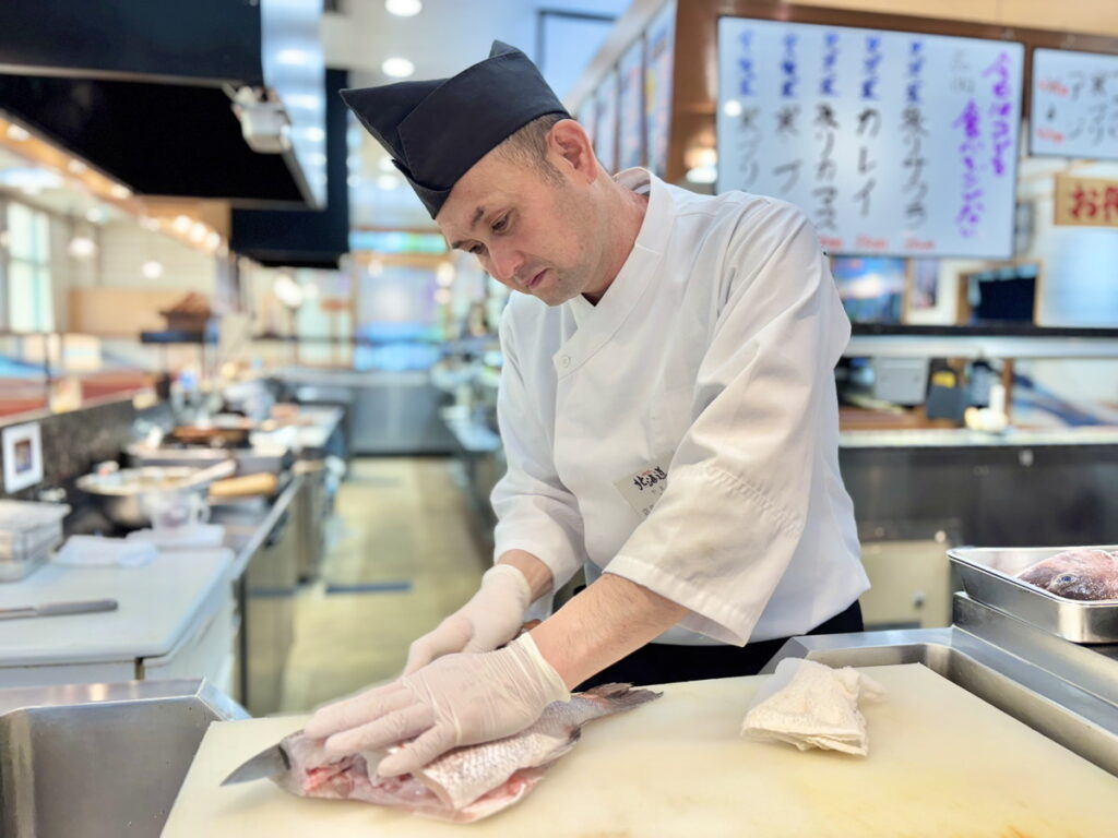
[(733, 223), (694, 419), (663, 496), (605, 570), (686, 607), (683, 628), (743, 645), (804, 531), (850, 322), (798, 209), (755, 203)]

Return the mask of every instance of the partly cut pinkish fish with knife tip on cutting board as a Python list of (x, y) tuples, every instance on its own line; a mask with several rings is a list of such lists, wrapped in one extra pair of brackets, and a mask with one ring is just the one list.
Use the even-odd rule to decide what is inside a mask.
[(321, 740), (300, 731), (253, 758), (226, 783), (271, 775), (299, 797), (362, 800), (465, 823), (495, 815), (528, 794), (548, 765), (578, 743), (587, 722), (639, 707), (660, 695), (627, 684), (604, 684), (549, 705), (534, 724), (513, 736), (457, 747), (402, 777), (377, 775), (383, 753), (329, 759)]

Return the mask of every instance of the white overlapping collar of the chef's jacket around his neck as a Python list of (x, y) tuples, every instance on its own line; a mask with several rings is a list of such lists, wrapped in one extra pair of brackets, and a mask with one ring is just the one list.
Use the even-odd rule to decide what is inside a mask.
[(613, 337), (629, 313), (654, 282), (656, 267), (663, 258), (675, 204), (664, 181), (647, 169), (626, 169), (614, 180), (634, 192), (648, 194), (648, 207), (628, 258), (622, 265), (606, 293), (591, 305), (581, 294), (566, 303), (575, 318), (577, 331), (555, 355), (560, 377), (574, 372)]

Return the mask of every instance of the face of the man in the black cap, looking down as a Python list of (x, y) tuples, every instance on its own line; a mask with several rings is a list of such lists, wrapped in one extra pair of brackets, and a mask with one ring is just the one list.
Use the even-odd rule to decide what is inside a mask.
[(435, 219), (494, 279), (559, 305), (600, 282), (605, 238), (591, 190), (571, 177), (490, 152), (454, 185)]

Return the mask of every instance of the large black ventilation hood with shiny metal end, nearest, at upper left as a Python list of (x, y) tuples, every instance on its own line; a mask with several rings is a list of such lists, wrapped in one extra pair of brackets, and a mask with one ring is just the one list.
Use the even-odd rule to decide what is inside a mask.
[(3, 0), (0, 111), (140, 194), (325, 204), (322, 0)]

